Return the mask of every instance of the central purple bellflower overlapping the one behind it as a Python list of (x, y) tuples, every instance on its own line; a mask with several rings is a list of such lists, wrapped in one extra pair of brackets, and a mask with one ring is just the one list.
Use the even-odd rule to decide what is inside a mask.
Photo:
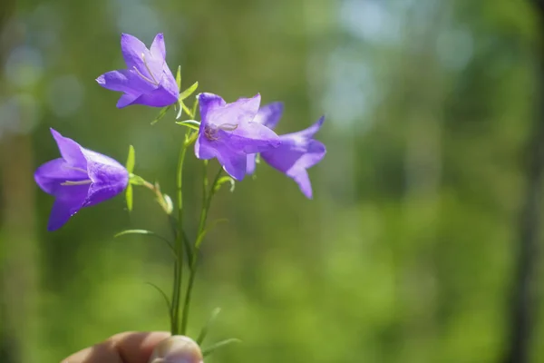
[(247, 173), (248, 154), (267, 152), (280, 145), (276, 132), (254, 122), (260, 94), (225, 103), (217, 94), (200, 93), (200, 128), (195, 143), (199, 159), (218, 158), (225, 172), (241, 181)]

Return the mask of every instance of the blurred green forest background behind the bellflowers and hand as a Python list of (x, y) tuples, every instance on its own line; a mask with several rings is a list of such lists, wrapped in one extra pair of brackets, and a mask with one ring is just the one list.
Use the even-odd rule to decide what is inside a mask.
[[(209, 343), (243, 343), (207, 362), (544, 361), (531, 3), (2, 0), (0, 361), (60, 361), (117, 332), (169, 329), (146, 285), (170, 291), (169, 251), (112, 237), (167, 231), (149, 193), (131, 215), (119, 196), (47, 232), (53, 198), (33, 179), (58, 157), (53, 127), (121, 162), (133, 144), (136, 172), (173, 194), (173, 113), (151, 127), (158, 110), (118, 110), (119, 93), (94, 81), (123, 68), (121, 32), (146, 44), (164, 32), (185, 87), (284, 101), (280, 133), (326, 115), (313, 201), (263, 164), (214, 201), (211, 217), (229, 223), (204, 243), (190, 334), (219, 306)], [(191, 157), (192, 225), (198, 166)], [(516, 341), (528, 358), (510, 357)]]

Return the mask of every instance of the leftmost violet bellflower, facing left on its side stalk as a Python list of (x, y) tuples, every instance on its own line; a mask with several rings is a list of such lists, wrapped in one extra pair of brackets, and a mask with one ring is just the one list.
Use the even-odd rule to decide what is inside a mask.
[(129, 182), (129, 172), (98, 152), (84, 149), (72, 139), (51, 129), (62, 158), (45, 162), (34, 172), (40, 188), (55, 197), (48, 231), (61, 228), (83, 207), (113, 198)]

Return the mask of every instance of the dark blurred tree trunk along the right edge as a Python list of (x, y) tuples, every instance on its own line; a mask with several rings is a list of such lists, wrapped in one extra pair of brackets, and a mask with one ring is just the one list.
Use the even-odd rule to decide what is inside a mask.
[(544, 171), (544, 0), (533, 0), (539, 13), (539, 49), (536, 69), (535, 116), (526, 149), (526, 191), (518, 227), (518, 255), (511, 291), (510, 347), (505, 363), (527, 363), (535, 321), (536, 294), (532, 281), (538, 258)]

